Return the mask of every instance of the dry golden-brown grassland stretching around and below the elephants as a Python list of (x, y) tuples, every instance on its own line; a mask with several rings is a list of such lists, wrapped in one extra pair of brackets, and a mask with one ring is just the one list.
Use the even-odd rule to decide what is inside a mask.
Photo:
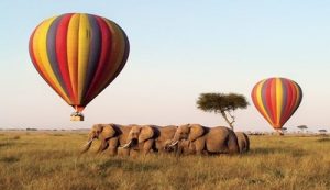
[(330, 138), (250, 136), (239, 156), (80, 156), (86, 134), (0, 132), (0, 189), (330, 189)]

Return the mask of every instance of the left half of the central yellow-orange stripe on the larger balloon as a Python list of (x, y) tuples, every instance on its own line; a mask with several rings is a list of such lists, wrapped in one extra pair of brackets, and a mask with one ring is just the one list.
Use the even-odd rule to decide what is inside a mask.
[(78, 103), (78, 33), (79, 33), (79, 14), (74, 14), (67, 29), (67, 62), (70, 82), (74, 92), (74, 104)]

